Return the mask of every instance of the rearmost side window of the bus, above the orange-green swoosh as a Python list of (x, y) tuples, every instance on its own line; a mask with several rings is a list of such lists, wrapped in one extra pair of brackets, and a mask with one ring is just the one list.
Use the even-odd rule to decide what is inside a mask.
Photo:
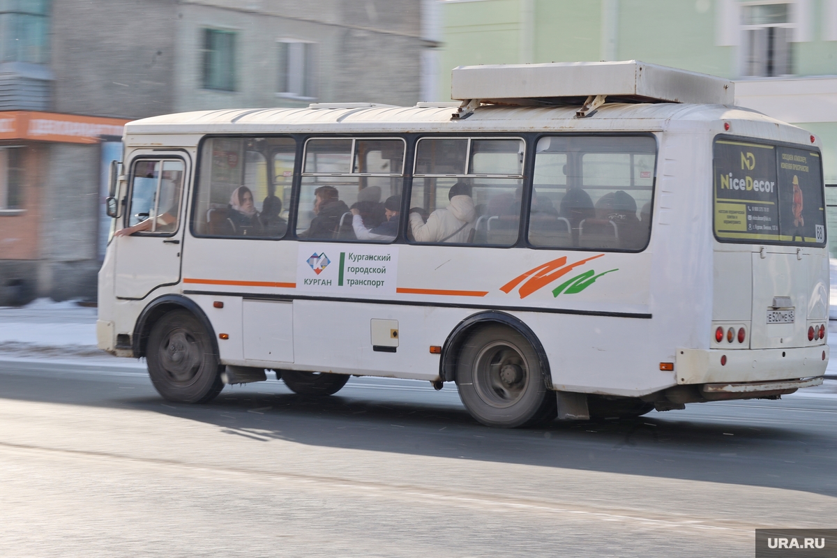
[(529, 242), (641, 250), (650, 238), (656, 144), (650, 136), (551, 136), (537, 143)]

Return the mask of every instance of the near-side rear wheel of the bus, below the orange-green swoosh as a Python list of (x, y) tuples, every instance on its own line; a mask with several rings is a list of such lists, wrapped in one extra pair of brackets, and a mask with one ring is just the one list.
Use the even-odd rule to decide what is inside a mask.
[(490, 427), (535, 426), (556, 417), (537, 352), (518, 331), (486, 325), (462, 345), (456, 387), (471, 416)]

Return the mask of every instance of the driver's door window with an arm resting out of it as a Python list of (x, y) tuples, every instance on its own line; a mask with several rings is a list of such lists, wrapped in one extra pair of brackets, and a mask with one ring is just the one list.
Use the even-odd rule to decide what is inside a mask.
[(183, 161), (141, 159), (131, 172), (128, 226), (149, 221), (146, 233), (177, 231), (183, 187)]

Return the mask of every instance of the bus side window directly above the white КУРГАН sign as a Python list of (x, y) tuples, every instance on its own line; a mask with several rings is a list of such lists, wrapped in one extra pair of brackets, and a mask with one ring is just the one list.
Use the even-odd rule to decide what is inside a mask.
[(311, 240), (395, 240), (404, 147), (401, 138), (307, 141), (296, 235)]

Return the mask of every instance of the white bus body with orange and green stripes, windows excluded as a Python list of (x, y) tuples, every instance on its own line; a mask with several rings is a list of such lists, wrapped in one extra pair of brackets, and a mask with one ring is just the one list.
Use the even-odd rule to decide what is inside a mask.
[[(769, 227), (771, 219), (778, 223), (777, 215), (786, 218), (786, 212), (797, 212), (795, 206), (784, 207), (783, 200), (761, 202), (759, 207), (768, 207), (762, 216), (756, 207), (760, 202), (725, 201), (717, 192), (726, 188), (716, 190), (716, 182), (723, 178), (726, 185), (729, 178), (732, 193), (740, 180), (741, 195), (752, 192), (752, 182), (767, 196), (776, 188), (769, 182), (781, 182), (781, 177), (759, 180), (745, 175), (757, 172), (757, 165), (768, 165), (759, 160), (763, 153), (768, 158), (774, 153), (778, 158), (770, 161), (775, 168), (766, 172), (773, 176), (796, 168), (801, 175), (804, 167), (816, 182), (813, 190), (807, 187), (819, 192), (804, 192), (809, 203), (805, 211), (822, 212), (819, 141), (793, 125), (727, 105), (613, 103), (598, 107), (588, 118), (578, 118), (577, 110), (489, 105), (468, 118), (451, 119), (449, 107), (336, 105), (216, 110), (131, 122), (126, 125), (125, 175), (115, 192), (122, 203), (116, 229), (131, 223), (131, 188), (140, 187), (135, 179), (144, 172), (133, 170), (138, 168), (136, 161), (146, 161), (142, 164), (148, 168), (162, 165), (156, 168), (163, 172), (152, 180), (182, 177), (182, 201), (169, 204), (176, 208), (179, 224), (176, 231), (146, 231), (111, 240), (100, 271), (99, 346), (118, 356), (147, 356), (154, 349), (149, 339), (153, 341), (157, 320), (180, 309), (194, 315), (206, 331), (203, 341), (188, 333), (172, 337), (181, 345), (166, 341), (175, 343), (169, 347), (172, 358), (188, 356), (183, 343), (203, 342), (217, 351), (218, 375), (227, 366), (221, 376), (226, 381), (263, 379), (267, 369), (439, 382), (457, 381), (460, 358), (474, 340), (474, 331), (493, 326), (518, 335), (510, 343), (521, 352), (523, 373), (542, 371), (543, 388), (557, 392), (550, 397), (557, 399), (560, 416), (579, 418), (682, 408), (686, 402), (776, 398), (821, 382), (829, 356), (824, 339), (829, 308), (824, 230), (818, 222), (813, 236), (802, 234), (795, 242), (778, 228), (758, 237), (747, 225), (762, 219)], [(204, 202), (202, 194), (196, 194), (199, 177), (209, 172), (208, 158), (218, 158), (228, 172), (234, 163), (253, 158), (223, 152), (218, 142), (210, 154), (207, 142), (213, 138), (245, 138), (254, 145), (285, 138), (281, 145), (293, 149), (285, 149), (290, 162), (281, 167), (286, 169), (282, 177), (280, 166), (274, 168), (275, 187), (284, 181), (288, 217), (297, 223), (301, 217), (293, 216), (308, 212), (313, 199), (300, 193), (307, 176), (302, 158), (311, 138), (403, 139), (406, 164), (395, 181), (403, 182), (406, 214), (410, 187), (419, 182), (414, 177), (419, 138), (522, 139), (524, 171), (519, 184), (522, 199), (529, 200), (533, 161), (549, 143), (543, 138), (587, 136), (645, 137), (655, 149), (653, 175), (642, 171), (653, 188), (653, 202), (646, 208), (650, 215), (642, 216), (645, 222), (650, 219), (650, 239), (638, 249), (532, 246), (526, 240), (526, 225), (534, 223), (531, 215), (524, 215), (521, 233), (507, 246), (414, 243), (405, 238), (406, 219), (395, 242), (377, 243), (297, 238), (292, 228), (280, 239), (229, 234), (210, 238), (196, 229), (203, 227), (196, 223), (211, 219), (212, 204), (198, 207)], [(727, 168), (737, 157), (735, 150), (743, 153), (741, 161), (735, 160), (737, 170)], [(803, 152), (807, 161), (793, 161), (794, 154)], [(791, 166), (786, 168), (781, 165), (787, 153)], [(166, 165), (174, 169), (168, 175)], [(567, 174), (567, 164), (563, 172)], [(316, 182), (317, 177), (309, 178)], [(792, 193), (796, 195), (795, 188)], [(300, 200), (299, 210), (295, 200)], [(523, 203), (523, 211), (531, 204)], [(812, 204), (819, 205), (814, 209)], [(160, 213), (162, 208), (154, 210), (151, 218)], [(808, 219), (812, 223), (815, 217)], [(164, 221), (158, 221), (161, 228)], [(725, 227), (733, 233), (723, 232)], [(309, 254), (326, 254), (328, 264), (322, 268), (325, 260), (316, 258), (309, 262)], [(320, 272), (312, 273), (317, 266)], [(344, 278), (348, 269), (353, 271), (346, 271)], [(553, 292), (579, 274), (576, 283)], [(179, 327), (187, 330), (188, 324)], [(531, 351), (519, 347), (525, 343), (531, 344)], [(519, 376), (520, 366), (503, 368), (503, 377)], [(198, 367), (181, 371), (182, 376), (176, 374), (172, 381), (192, 381)], [(211, 395), (218, 391), (218, 380), (213, 382)], [(503, 397), (502, 387), (497, 389)], [(163, 395), (189, 401), (207, 398)], [(519, 426), (542, 420), (541, 415), (554, 417), (554, 407), (553, 403), (552, 410), (508, 420), (502, 412), (494, 418), (480, 417), (479, 412), (476, 416), (487, 424)]]

